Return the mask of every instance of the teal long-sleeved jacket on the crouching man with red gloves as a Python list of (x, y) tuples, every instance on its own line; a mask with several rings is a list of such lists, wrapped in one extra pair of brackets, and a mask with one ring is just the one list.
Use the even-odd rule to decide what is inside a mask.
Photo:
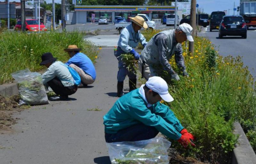
[[(143, 87), (143, 86), (141, 86)], [(171, 139), (180, 139), (183, 126), (168, 106), (160, 102), (148, 105), (141, 91), (135, 89), (119, 98), (103, 117), (106, 133), (117, 133), (129, 126), (143, 123), (155, 127)]]

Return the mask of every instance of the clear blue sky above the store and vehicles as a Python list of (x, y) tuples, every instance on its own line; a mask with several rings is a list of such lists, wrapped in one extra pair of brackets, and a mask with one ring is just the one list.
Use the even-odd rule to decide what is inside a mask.
[[(0, 0), (3, 2), (4, 0)], [(14, 0), (10, 0), (12, 2)], [(19, 2), (19, 0), (16, 0)], [(30, 1), (32, 2), (32, 1)], [(46, 0), (47, 3), (51, 3), (52, 0)], [(60, 3), (61, 0), (55, 0), (55, 3)], [(224, 11), (228, 9), (229, 14), (233, 14), (233, 8), (234, 8), (234, 2), (235, 2), (235, 8), (240, 4), (240, 0), (196, 0), (196, 3), (199, 4), (199, 8), (202, 10), (204, 9), (204, 12), (211, 14), (212, 11)], [(131, 4), (132, 5), (132, 4)], [(237, 12), (235, 11), (235, 14)]]

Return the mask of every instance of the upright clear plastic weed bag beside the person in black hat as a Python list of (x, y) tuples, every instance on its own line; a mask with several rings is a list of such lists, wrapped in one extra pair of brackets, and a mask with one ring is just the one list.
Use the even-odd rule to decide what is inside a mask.
[(18, 82), (18, 90), (21, 97), (19, 105), (41, 105), (49, 103), (40, 73), (30, 72), (26, 68), (12, 73), (12, 77)]

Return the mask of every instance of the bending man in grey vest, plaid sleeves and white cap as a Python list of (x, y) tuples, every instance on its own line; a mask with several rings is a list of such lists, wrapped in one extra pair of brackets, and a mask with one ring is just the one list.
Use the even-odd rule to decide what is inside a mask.
[(175, 30), (166, 30), (153, 36), (147, 46), (142, 50), (139, 59), (139, 70), (146, 80), (157, 76), (154, 66), (162, 65), (163, 69), (171, 75), (172, 80), (179, 81), (179, 75), (172, 69), (169, 60), (175, 54), (175, 61), (181, 69), (183, 76), (188, 77), (181, 43), (193, 42), (191, 36), (193, 28), (187, 23), (179, 25)]

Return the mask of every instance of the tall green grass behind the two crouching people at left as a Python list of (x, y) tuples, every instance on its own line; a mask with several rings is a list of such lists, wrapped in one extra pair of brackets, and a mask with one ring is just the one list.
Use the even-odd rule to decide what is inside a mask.
[(70, 44), (75, 44), (82, 48), (92, 61), (95, 60), (98, 51), (97, 47), (84, 41), (83, 32), (8, 32), (0, 33), (0, 84), (12, 80), (11, 73), (29, 68), (31, 72), (45, 69), (40, 66), (41, 55), (51, 52), (59, 61), (66, 62), (68, 54), (63, 51)]

